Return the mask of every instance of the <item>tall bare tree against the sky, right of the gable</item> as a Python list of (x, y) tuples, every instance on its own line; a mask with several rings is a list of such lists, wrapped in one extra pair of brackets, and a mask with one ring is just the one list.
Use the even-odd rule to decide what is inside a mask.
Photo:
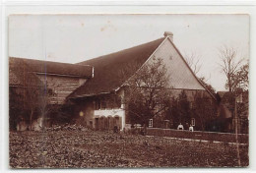
[(239, 69), (243, 59), (237, 60), (237, 50), (227, 46), (223, 46), (219, 49), (219, 56), (222, 61), (219, 65), (226, 77), (225, 87), (229, 91), (234, 91), (236, 85), (233, 83), (233, 77)]

